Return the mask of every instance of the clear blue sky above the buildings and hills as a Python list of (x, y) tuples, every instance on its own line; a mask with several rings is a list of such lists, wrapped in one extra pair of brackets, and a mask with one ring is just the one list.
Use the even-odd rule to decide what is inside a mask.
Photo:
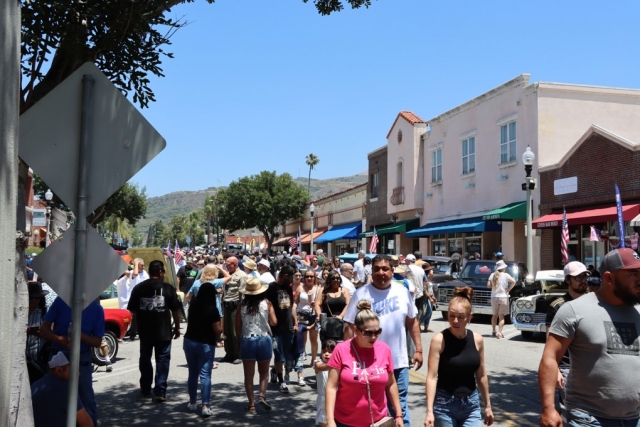
[(320, 16), (302, 0), (203, 0), (142, 110), (167, 148), (132, 181), (149, 196), (262, 170), (367, 169), (401, 110), (425, 120), (519, 74), (640, 88), (640, 2), (374, 0)]

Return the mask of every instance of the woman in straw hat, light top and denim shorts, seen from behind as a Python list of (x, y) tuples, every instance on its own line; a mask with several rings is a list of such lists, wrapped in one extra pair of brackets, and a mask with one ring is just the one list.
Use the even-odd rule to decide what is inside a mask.
[(236, 336), (239, 337), (238, 349), (244, 371), (244, 389), (247, 393), (248, 405), (245, 411), (255, 413), (253, 394), (253, 376), (256, 363), (260, 378), (260, 395), (258, 403), (267, 411), (271, 404), (267, 401), (267, 385), (269, 381), (269, 364), (273, 351), (271, 326), (277, 324), (276, 312), (265, 293), (269, 285), (255, 277), (243, 280), (239, 292), (243, 295), (240, 307), (236, 310)]

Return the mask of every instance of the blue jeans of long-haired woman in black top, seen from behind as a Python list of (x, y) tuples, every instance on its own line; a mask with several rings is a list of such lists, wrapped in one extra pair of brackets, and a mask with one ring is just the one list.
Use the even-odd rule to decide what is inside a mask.
[(211, 397), (211, 370), (213, 369), (213, 357), (216, 346), (205, 344), (185, 338), (182, 344), (184, 356), (189, 367), (189, 401), (195, 403), (198, 398), (198, 376), (200, 377), (200, 397), (202, 404), (209, 406)]

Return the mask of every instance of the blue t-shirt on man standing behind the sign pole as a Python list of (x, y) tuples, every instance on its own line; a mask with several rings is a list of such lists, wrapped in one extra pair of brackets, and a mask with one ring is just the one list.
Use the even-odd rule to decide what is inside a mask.
[[(44, 315), (44, 320), (53, 323), (53, 333), (62, 337), (69, 335), (69, 325), (71, 324), (71, 307), (67, 305), (62, 298), (57, 297), (51, 308)], [(80, 330), (87, 335), (93, 337), (104, 336), (104, 309), (94, 300), (84, 310), (82, 310), (82, 325)], [(55, 343), (51, 346), (59, 351), (63, 351), (66, 355), (69, 355), (69, 350), (63, 349)], [(80, 352), (90, 354), (91, 347), (86, 345), (80, 340)], [(90, 356), (89, 356), (90, 357)], [(81, 358), (84, 361), (84, 359)]]

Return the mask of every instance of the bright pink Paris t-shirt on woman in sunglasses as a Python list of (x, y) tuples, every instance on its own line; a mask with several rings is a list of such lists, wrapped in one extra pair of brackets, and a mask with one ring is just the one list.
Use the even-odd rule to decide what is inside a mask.
[(385, 388), (389, 382), (389, 375), (393, 375), (394, 365), (389, 346), (378, 339), (372, 348), (356, 346), (364, 365), (360, 366), (351, 345), (352, 341), (338, 344), (328, 363), (340, 375), (334, 416), (337, 421), (349, 426), (369, 427), (371, 417), (365, 375), (369, 378), (373, 419), (378, 421), (387, 415)]

